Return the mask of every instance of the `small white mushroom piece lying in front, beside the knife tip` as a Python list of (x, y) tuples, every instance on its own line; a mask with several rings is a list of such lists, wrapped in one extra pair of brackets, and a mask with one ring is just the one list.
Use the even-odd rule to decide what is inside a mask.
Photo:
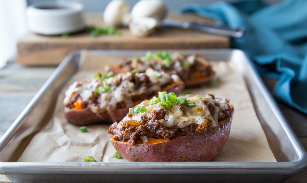
[(151, 17), (139, 17), (129, 23), (130, 33), (137, 37), (146, 37), (155, 31), (157, 20)]

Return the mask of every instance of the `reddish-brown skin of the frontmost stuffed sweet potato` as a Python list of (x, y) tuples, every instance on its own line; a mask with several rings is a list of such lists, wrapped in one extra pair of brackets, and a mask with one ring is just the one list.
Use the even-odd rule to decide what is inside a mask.
[[(200, 135), (187, 135), (155, 144), (131, 145), (111, 142), (119, 154), (130, 162), (210, 161), (216, 157), (229, 137), (232, 116), (220, 123), (220, 130)], [(215, 131), (215, 132), (214, 132)]]

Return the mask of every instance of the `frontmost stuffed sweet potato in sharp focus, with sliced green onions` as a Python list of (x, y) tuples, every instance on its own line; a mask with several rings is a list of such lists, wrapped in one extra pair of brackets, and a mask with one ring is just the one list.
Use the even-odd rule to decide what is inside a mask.
[(110, 126), (116, 151), (130, 162), (210, 161), (216, 157), (230, 133), (234, 108), (229, 100), (211, 94), (165, 98), (143, 101)]

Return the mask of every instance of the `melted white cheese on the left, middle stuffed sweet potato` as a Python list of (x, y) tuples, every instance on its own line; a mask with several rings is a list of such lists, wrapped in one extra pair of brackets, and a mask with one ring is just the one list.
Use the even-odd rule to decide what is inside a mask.
[[(154, 70), (148, 68), (145, 72), (149, 76), (151, 81), (150, 87), (140, 87), (135, 89), (134, 82), (130, 81), (130, 77), (133, 75), (131, 72), (120, 73), (114, 77), (104, 79), (103, 81), (99, 78), (85, 80), (83, 82), (74, 82), (68, 87), (65, 92), (64, 105), (69, 104), (69, 100), (73, 93), (79, 92), (83, 101), (88, 101), (93, 98), (95, 89), (99, 86), (103, 86), (103, 82), (106, 81), (109, 85), (109, 90), (100, 93), (96, 102), (100, 103), (99, 108), (92, 106), (91, 111), (94, 113), (107, 111), (112, 115), (113, 111), (116, 109), (116, 104), (124, 101), (127, 107), (132, 107), (135, 103), (131, 100), (132, 95), (141, 95), (143, 93), (152, 91), (161, 91), (161, 86), (172, 81), (171, 76), (165, 72), (161, 72), (161, 77), (154, 75)], [(144, 75), (144, 73), (138, 73), (136, 76)], [(172, 76), (176, 78), (176, 76)], [(178, 76), (177, 76), (178, 77)], [(178, 77), (179, 78), (179, 77)]]

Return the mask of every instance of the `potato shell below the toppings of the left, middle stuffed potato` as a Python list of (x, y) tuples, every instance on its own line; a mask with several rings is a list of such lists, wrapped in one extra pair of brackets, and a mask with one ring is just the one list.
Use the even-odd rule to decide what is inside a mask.
[[(170, 83), (170, 85), (166, 86), (162, 91), (166, 91), (167, 93), (174, 92), (176, 95), (179, 95), (184, 89), (185, 89), (184, 82), (182, 81), (174, 82), (173, 81)], [(151, 99), (152, 97), (153, 96), (149, 97), (149, 99)], [(141, 103), (142, 101), (136, 102), (135, 105)], [(76, 104), (76, 106), (80, 106), (80, 105)], [(126, 114), (129, 112), (130, 107), (133, 107), (133, 106), (129, 106), (127, 108), (116, 109), (114, 111), (115, 120), (121, 121), (126, 116)], [(83, 126), (83, 125), (90, 125), (90, 124), (95, 124), (95, 123), (112, 122), (111, 116), (108, 113), (104, 115), (100, 115), (100, 117), (98, 117), (89, 108), (76, 110), (76, 109), (70, 109), (70, 108), (65, 107), (64, 114), (65, 114), (66, 119), (70, 123), (73, 123), (75, 125)]]

